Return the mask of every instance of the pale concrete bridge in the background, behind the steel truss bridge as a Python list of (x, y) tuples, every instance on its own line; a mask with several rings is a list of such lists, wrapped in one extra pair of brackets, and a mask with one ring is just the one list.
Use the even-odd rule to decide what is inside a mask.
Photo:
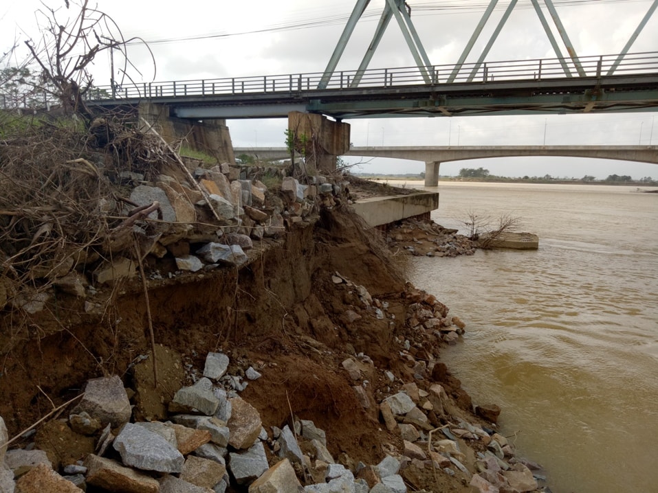
[[(236, 156), (247, 154), (261, 160), (287, 159), (286, 148), (234, 148)], [(439, 184), (439, 165), (446, 161), (488, 157), (562, 156), (617, 159), (658, 164), (658, 146), (370, 146), (351, 147), (343, 155), (388, 157), (424, 161), (425, 185)]]

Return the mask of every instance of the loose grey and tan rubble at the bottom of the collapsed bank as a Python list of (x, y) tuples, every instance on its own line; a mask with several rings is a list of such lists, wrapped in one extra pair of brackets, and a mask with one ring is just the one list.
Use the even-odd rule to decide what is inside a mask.
[[(331, 284), (358, 310), (346, 310), (349, 319), (395, 320), (388, 303), (364, 286), (340, 273)], [(393, 333), (399, 371), (375, 367), (363, 352), (313, 344), (351, 382), (363, 412), (374, 411), (388, 431), (377, 463), (329, 450), (332, 430), (292, 408), (285, 422), (265, 422), (241, 394), (248, 387), (267, 393), (260, 382), (273, 361), (236, 365), (228, 354), (210, 352), (201, 371), (161, 348), (173, 354), (168, 365), (187, 368), (190, 385), (163, 396), (164, 406), (148, 404), (144, 394), (162, 392), (149, 387), (153, 363), (146, 355), (133, 368), (132, 387), (118, 376), (89, 380), (67, 417), (23, 433), (21, 448), (0, 449), (0, 491), (405, 493), (453, 479), (479, 492), (538, 490), (539, 466), (516, 457), (514, 445), (496, 433), (500, 409), (476, 408), (488, 418), (477, 419), (459, 380), (437, 360), (441, 341), (459, 338), (463, 322), (413, 286), (402, 296), (409, 301), (404, 330)], [(7, 441), (0, 419), (0, 443)]]

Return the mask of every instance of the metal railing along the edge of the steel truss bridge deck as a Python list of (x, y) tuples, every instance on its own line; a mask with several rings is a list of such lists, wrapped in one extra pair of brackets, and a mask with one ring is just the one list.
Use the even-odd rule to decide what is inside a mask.
[(505, 60), (465, 63), (461, 66), (434, 65), (432, 67), (402, 67), (395, 69), (367, 69), (340, 71), (327, 80), (322, 73), (298, 73), (276, 76), (251, 76), (206, 80), (147, 82), (125, 87), (95, 87), (89, 100), (122, 100), (140, 98), (179, 98), (212, 95), (248, 95), (267, 93), (311, 93), (318, 89), (349, 90), (388, 88), (446, 83), (483, 83), (520, 80), (549, 80), (556, 78), (604, 77), (611, 74), (658, 73), (658, 52), (586, 56), (578, 58), (534, 60)]

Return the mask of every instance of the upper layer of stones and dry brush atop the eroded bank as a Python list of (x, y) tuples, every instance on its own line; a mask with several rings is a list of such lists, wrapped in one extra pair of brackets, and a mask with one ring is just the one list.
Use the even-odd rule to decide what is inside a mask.
[[(0, 310), (34, 314), (58, 296), (93, 297), (103, 286), (137, 277), (140, 262), (150, 279), (240, 266), (254, 241), (281, 237), (318, 206), (340, 203), (342, 192), (324, 176), (300, 183), (281, 167), (208, 168), (163, 156), (138, 172), (106, 161), (98, 154), (55, 163), (48, 179), (41, 175), (50, 169), (38, 176), (21, 171), (25, 188), (41, 190), (19, 188), (0, 198)], [(19, 178), (12, 174), (21, 166), (30, 169), (20, 159), (3, 165), (3, 190), (15, 188)], [(88, 303), (87, 310), (94, 308)]]

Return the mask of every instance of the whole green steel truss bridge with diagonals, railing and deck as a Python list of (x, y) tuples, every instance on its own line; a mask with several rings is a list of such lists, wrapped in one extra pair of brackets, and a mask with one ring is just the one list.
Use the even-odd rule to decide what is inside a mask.
[[(653, 0), (619, 54), (579, 57), (553, 0), (530, 0), (556, 58), (487, 61), (487, 55), (518, 0), (509, 0), (475, 62), (466, 62), (490, 21), (489, 5), (456, 64), (435, 65), (411, 19), (405, 0), (386, 0), (380, 21), (358, 69), (336, 71), (370, 0), (355, 0), (327, 67), (322, 73), (152, 82), (95, 88), (95, 104), (144, 101), (168, 105), (187, 119), (286, 117), (291, 111), (335, 119), (436, 117), (655, 111), (658, 107), (658, 52), (629, 54), (658, 9)], [(546, 11), (546, 12), (545, 12)], [(384, 33), (395, 19), (415, 67), (369, 69)], [(551, 22), (553, 25), (551, 26)], [(560, 46), (561, 45), (561, 46)]]

